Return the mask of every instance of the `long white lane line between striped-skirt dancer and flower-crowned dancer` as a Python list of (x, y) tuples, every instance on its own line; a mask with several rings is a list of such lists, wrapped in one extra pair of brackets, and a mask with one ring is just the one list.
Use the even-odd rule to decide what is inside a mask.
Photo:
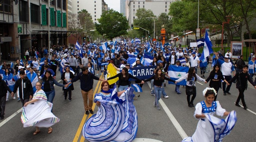
[[(147, 82), (149, 85), (149, 88), (151, 86), (150, 82)], [(182, 139), (188, 137), (188, 135), (185, 133), (185, 131), (182, 129), (182, 127), (179, 125), (179, 122), (175, 119), (175, 117), (173, 116), (173, 114), (171, 113), (171, 111), (168, 109), (168, 107), (166, 106), (166, 104), (163, 102), (162, 99), (159, 100), (159, 103), (161, 104), (161, 106), (163, 107), (164, 111), (166, 112), (166, 114), (168, 115), (169, 119), (171, 120), (172, 124), (174, 125), (174, 127), (176, 128), (176, 130), (178, 131), (179, 135), (181, 136)]]

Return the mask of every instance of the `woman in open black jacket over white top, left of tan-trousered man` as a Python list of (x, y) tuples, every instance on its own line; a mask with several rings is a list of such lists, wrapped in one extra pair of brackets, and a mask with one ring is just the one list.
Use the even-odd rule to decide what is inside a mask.
[[(66, 66), (64, 70), (65, 71), (61, 75), (61, 80), (63, 80), (63, 84), (66, 85), (73, 78), (75, 78), (75, 76), (74, 76), (74, 73), (70, 71), (70, 67), (69, 66)], [(67, 100), (67, 96), (68, 96), (68, 101), (72, 101), (71, 93), (72, 93), (72, 90), (74, 90), (73, 83), (68, 88), (63, 88), (63, 90), (64, 90), (64, 97), (65, 97), (64, 99)]]

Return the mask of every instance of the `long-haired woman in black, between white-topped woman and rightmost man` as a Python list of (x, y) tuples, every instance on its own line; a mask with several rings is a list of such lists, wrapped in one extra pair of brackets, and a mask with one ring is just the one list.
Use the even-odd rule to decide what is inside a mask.
[(213, 70), (210, 72), (209, 77), (205, 80), (206, 82), (209, 82), (210, 88), (214, 88), (217, 92), (217, 94), (214, 97), (214, 101), (216, 101), (217, 95), (218, 95), (218, 90), (221, 88), (221, 80), (223, 80), (227, 85), (230, 85), (227, 80), (222, 75), (222, 72), (220, 71), (220, 65), (215, 64), (213, 67)]

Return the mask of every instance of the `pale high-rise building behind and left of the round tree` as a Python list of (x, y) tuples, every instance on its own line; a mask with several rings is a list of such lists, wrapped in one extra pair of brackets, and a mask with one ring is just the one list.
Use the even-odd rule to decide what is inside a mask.
[(72, 13), (77, 14), (83, 9), (91, 14), (94, 23), (98, 23), (102, 12), (107, 11), (107, 4), (104, 0), (72, 0)]

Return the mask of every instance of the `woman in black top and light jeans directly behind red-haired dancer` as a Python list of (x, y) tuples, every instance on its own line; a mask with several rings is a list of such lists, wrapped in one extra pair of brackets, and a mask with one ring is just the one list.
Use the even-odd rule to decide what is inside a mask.
[[(144, 83), (143, 80), (140, 80), (134, 76), (132, 76), (131, 74), (128, 73), (128, 69), (126, 67), (124, 67), (122, 69), (122, 72), (118, 73), (117, 75), (115, 76), (112, 76), (108, 79), (105, 79), (106, 81), (107, 80), (111, 80), (111, 79), (114, 79), (114, 78), (119, 78), (119, 83), (118, 83), (118, 89), (119, 91), (123, 91), (125, 88), (129, 87), (130, 84), (129, 84), (129, 79), (130, 78), (133, 78), (135, 80), (138, 80), (140, 83)], [(104, 81), (104, 80), (103, 80)]]

